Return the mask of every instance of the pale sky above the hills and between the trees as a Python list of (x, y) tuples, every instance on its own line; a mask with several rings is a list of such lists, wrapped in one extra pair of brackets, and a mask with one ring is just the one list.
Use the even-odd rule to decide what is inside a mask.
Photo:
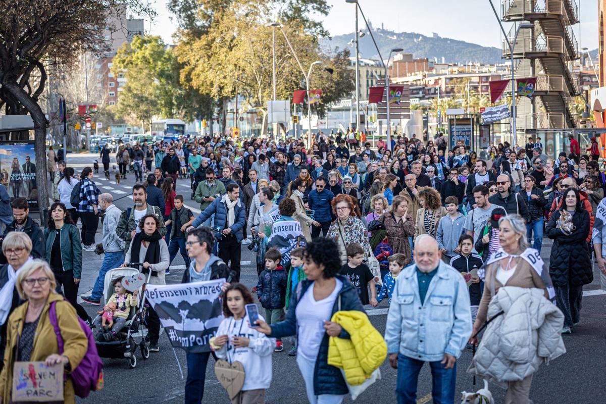
[[(581, 24), (574, 27), (579, 47), (593, 50), (598, 47), (598, 0), (571, 1), (576, 1), (581, 8)], [(151, 35), (160, 35), (166, 43), (172, 44), (171, 35), (176, 24), (170, 20), (167, 2), (155, 0), (158, 16), (155, 21), (146, 21), (145, 28)], [(493, 3), (499, 12), (501, 0), (493, 0)], [(353, 32), (353, 4), (345, 0), (328, 0), (328, 4), (332, 6), (328, 16), (318, 18), (324, 19), (324, 27), (330, 34)], [(384, 24), (385, 29), (396, 32), (416, 32), (427, 36), (437, 33), (443, 38), (501, 47), (499, 24), (489, 0), (359, 0), (359, 4), (373, 27)], [(361, 18), (359, 24), (362, 28), (364, 21)], [(509, 30), (508, 25), (504, 24), (505, 31)]]

